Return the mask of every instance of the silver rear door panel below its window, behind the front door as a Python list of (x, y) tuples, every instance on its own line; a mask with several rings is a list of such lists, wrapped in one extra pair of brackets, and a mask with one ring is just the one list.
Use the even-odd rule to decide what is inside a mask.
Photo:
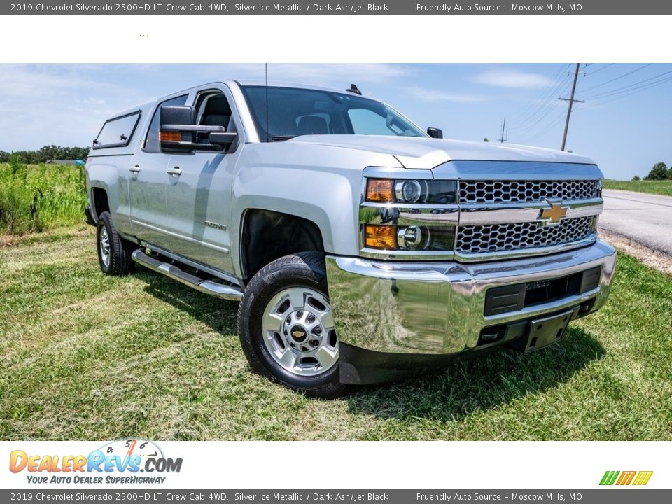
[(166, 182), (169, 156), (134, 155), (128, 172), (131, 228), (151, 244), (168, 247), (166, 235)]

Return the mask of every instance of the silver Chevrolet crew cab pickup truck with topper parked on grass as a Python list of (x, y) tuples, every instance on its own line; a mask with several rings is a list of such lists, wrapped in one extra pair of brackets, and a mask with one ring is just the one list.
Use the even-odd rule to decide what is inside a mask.
[(346, 91), (210, 83), (107, 120), (86, 162), (102, 271), (239, 302), (253, 370), (319, 397), (535, 351), (601, 308), (589, 158), (442, 139)]

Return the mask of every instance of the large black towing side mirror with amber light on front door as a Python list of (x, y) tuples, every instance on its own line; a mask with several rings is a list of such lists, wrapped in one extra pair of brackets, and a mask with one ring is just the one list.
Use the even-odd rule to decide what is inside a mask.
[(223, 126), (194, 124), (194, 116), (194, 108), (190, 106), (161, 107), (161, 151), (226, 151), (236, 140), (237, 133), (227, 133)]

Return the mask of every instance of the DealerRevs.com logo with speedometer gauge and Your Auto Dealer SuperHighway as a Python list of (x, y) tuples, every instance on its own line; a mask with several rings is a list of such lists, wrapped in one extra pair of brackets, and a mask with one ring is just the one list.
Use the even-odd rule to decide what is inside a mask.
[(166, 474), (180, 472), (182, 458), (169, 458), (153, 442), (114, 441), (88, 455), (35, 455), (10, 453), (9, 470), (27, 472), (35, 484), (161, 484)]

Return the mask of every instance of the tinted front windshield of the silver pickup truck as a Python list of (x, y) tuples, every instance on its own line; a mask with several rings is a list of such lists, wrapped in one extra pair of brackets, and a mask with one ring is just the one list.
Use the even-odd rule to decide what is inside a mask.
[(241, 87), (262, 141), (286, 140), (305, 134), (426, 137), (386, 104), (356, 94), (295, 87)]

